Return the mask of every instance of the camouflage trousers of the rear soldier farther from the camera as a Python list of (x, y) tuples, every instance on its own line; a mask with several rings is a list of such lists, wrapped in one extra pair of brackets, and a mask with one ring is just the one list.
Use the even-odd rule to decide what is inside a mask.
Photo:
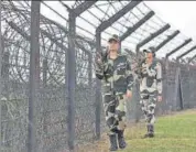
[(156, 107), (156, 101), (157, 101), (157, 94), (155, 93), (141, 93), (141, 109), (143, 111), (143, 115), (145, 117), (145, 121), (150, 124), (154, 124), (155, 122), (155, 107)]

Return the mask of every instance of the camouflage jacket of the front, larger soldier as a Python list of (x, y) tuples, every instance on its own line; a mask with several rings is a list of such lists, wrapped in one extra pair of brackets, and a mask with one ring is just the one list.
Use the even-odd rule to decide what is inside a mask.
[(120, 54), (116, 59), (107, 57), (102, 65), (96, 64), (96, 76), (102, 80), (104, 93), (126, 94), (133, 86), (131, 58)]

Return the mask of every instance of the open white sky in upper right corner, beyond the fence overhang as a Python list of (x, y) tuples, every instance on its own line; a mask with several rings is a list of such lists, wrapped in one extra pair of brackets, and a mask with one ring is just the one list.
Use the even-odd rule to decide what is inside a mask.
[(145, 1), (156, 15), (196, 41), (196, 1)]

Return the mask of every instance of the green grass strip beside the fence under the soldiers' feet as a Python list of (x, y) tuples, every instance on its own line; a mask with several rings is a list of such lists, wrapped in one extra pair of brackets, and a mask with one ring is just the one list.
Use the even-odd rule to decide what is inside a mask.
[[(130, 124), (126, 130), (128, 146), (120, 152), (196, 152), (196, 110), (160, 117), (155, 123), (155, 138), (142, 139), (145, 124)], [(77, 152), (108, 152), (106, 135)]]

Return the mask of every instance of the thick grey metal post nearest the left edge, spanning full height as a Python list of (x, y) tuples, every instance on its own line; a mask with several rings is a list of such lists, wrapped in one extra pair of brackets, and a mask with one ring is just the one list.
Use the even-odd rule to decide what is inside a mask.
[(36, 152), (36, 123), (35, 102), (37, 89), (36, 57), (40, 53), (40, 1), (31, 2), (31, 52), (30, 52), (30, 94), (29, 94), (29, 126), (28, 126), (28, 152)]

